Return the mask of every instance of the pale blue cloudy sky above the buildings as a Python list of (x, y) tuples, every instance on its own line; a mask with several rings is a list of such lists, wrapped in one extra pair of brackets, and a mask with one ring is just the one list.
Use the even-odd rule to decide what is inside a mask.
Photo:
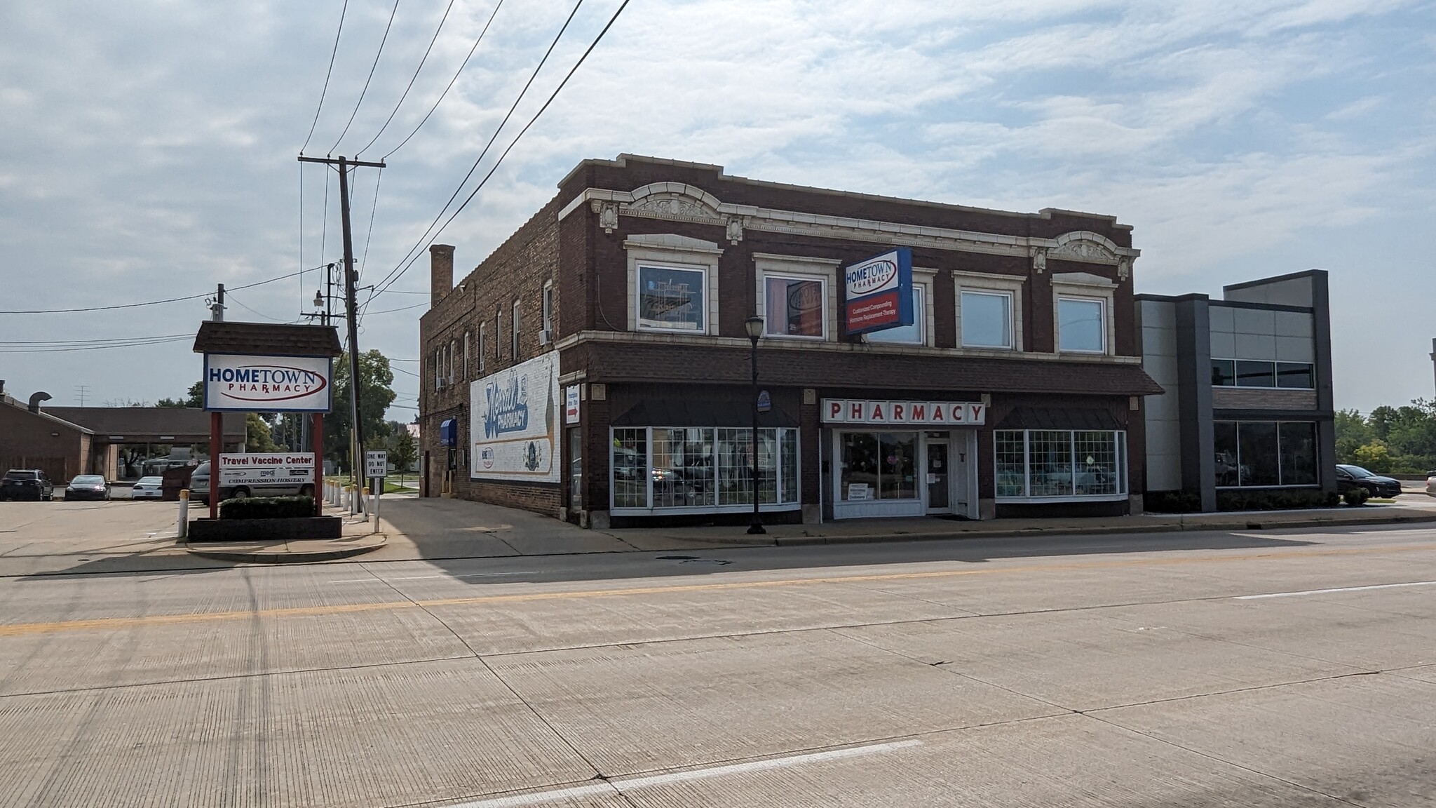
[[(574, 3), (504, 0), (494, 14), (495, 1), (455, 0), (442, 27), (448, 0), (348, 3), (312, 155), (365, 148), (439, 32), (363, 151), (389, 168), (355, 175), (362, 283), (402, 266)], [(619, 1), (583, 0), (497, 148)], [(343, 6), (0, 6), (0, 311), (188, 298), (337, 260), (337, 183), (329, 173), (326, 203), (326, 171), (296, 155)], [(491, 14), (452, 91), (393, 151)], [(632, 0), (441, 240), (472, 266), (579, 160), (619, 152), (1110, 213), (1136, 227), (1139, 292), (1219, 296), (1223, 283), (1331, 270), (1337, 404), (1366, 411), (1433, 394), (1433, 88), (1429, 0)], [(317, 280), (236, 290), (228, 316), (296, 319)], [(421, 260), (368, 306), (360, 348), (415, 359), (409, 306), (426, 298), (399, 292), (425, 289)], [(207, 315), (204, 299), (0, 313), (0, 378), (57, 404), (78, 404), (78, 385), (90, 404), (178, 395), (200, 374), (188, 341), (134, 342), (192, 334)], [(116, 339), (131, 345), (70, 349)], [(418, 378), (398, 372), (396, 388), (389, 416), (409, 420)]]

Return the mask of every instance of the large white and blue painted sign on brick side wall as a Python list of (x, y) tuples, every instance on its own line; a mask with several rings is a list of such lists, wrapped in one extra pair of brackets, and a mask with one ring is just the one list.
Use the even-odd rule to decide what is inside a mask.
[(468, 387), (468, 476), (557, 483), (559, 354), (547, 352)]

